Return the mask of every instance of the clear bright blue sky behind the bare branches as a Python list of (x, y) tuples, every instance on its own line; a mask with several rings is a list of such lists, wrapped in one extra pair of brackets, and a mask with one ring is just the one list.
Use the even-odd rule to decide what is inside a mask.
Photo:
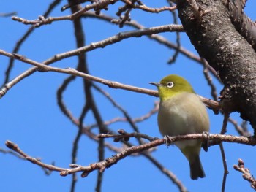
[[(0, 12), (18, 12), (19, 17), (34, 20), (42, 15), (51, 1), (2, 1)], [(162, 7), (167, 5), (165, 1), (143, 1), (148, 7)], [(52, 17), (68, 15), (69, 10), (61, 12), (61, 7), (66, 4), (62, 1), (50, 14)], [(106, 14), (113, 15), (121, 3), (109, 7)], [(246, 14), (255, 20), (255, 1), (249, 1), (246, 6)], [(150, 18), (149, 18), (149, 17)], [(132, 11), (132, 19), (137, 19), (143, 26), (161, 26), (173, 22), (170, 13), (162, 12), (150, 14), (139, 10)], [(29, 26), (12, 21), (10, 18), (0, 18), (1, 36), (0, 49), (12, 52), (16, 42)], [(118, 28), (118, 26), (105, 23), (97, 19), (84, 19), (84, 30), (86, 31), (86, 45), (97, 42), (107, 37), (118, 34), (120, 31), (134, 30), (131, 27)], [(175, 35), (163, 33), (162, 36), (174, 42)], [(188, 50), (197, 54), (189, 42), (186, 34), (181, 34), (181, 44)], [(45, 61), (57, 53), (75, 49), (72, 23), (69, 20), (52, 23), (51, 25), (37, 28), (27, 41), (21, 46), (19, 53), (35, 61)], [(97, 77), (107, 80), (122, 82), (142, 88), (155, 89), (148, 82), (157, 82), (167, 74), (180, 74), (187, 78), (195, 88), (195, 91), (207, 98), (211, 98), (210, 88), (203, 77), (203, 67), (190, 61), (183, 55), (179, 55), (175, 64), (168, 65), (167, 61), (173, 54), (173, 50), (149, 40), (147, 37), (125, 39), (116, 45), (110, 45), (104, 49), (97, 49), (87, 53), (89, 71)], [(4, 72), (9, 59), (0, 56), (0, 82), (4, 81)], [(67, 58), (56, 62), (53, 66), (61, 68), (75, 67), (77, 58)], [(15, 61), (11, 78), (29, 69), (29, 64)], [(61, 114), (56, 104), (56, 90), (59, 88), (67, 74), (56, 74), (53, 72), (32, 74), (30, 77), (19, 82), (0, 100), (1, 129), (0, 147), (6, 149), (4, 142), (11, 140), (17, 143), (22, 150), (33, 157), (42, 158), (42, 161), (56, 166), (68, 167), (71, 161), (72, 142), (75, 138), (77, 128)], [(217, 85), (217, 93), (221, 91), (222, 85), (214, 80)], [(97, 84), (99, 85), (99, 84)], [(118, 104), (129, 112), (132, 118), (146, 114), (154, 107), (157, 98), (133, 93), (124, 90), (108, 88), (99, 85), (108, 91)], [(102, 118), (110, 120), (123, 115), (112, 106), (103, 96), (94, 92)], [(82, 80), (77, 78), (64, 93), (69, 110), (78, 117), (83, 101)], [(222, 115), (214, 115), (208, 110), (211, 120), (211, 133), (219, 133), (222, 128)], [(238, 123), (241, 118), (238, 114), (232, 114)], [(94, 123), (91, 113), (86, 117), (85, 124)], [(138, 123), (142, 133), (151, 137), (161, 137), (157, 128), (157, 115), (152, 116), (143, 123)], [(110, 126), (113, 130), (124, 128), (132, 131), (126, 123), (116, 123)], [(252, 128), (249, 126), (249, 131)], [(232, 125), (227, 126), (227, 134), (236, 134)], [(112, 142), (112, 139), (106, 139)], [(117, 144), (120, 146), (120, 144)], [(252, 191), (241, 173), (233, 170), (233, 164), (237, 164), (238, 158), (242, 158), (245, 166), (252, 174), (256, 173), (254, 147), (224, 144), (227, 166), (230, 174), (227, 175), (226, 191)], [(114, 153), (106, 150), (106, 157)], [(211, 147), (208, 153), (202, 151), (201, 161), (206, 172), (203, 180), (192, 181), (189, 178), (189, 165), (184, 156), (176, 147), (157, 148), (152, 153), (167, 169), (177, 175), (189, 191), (220, 191), (222, 185), (222, 158), (219, 147)], [(97, 161), (97, 145), (87, 137), (82, 137), (79, 142), (78, 164), (89, 165)], [(19, 160), (12, 155), (0, 153), (0, 188), (3, 191), (69, 191), (71, 177), (61, 177), (59, 172), (53, 172), (46, 176), (39, 166), (27, 161)], [(77, 191), (94, 191), (97, 172), (92, 172), (86, 178), (79, 177)], [(159, 172), (151, 163), (143, 157), (128, 157), (105, 170), (102, 191), (178, 191), (170, 180)]]

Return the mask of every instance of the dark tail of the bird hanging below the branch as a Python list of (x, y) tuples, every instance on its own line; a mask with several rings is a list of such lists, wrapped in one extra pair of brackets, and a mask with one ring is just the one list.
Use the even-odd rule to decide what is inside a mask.
[(193, 159), (189, 160), (190, 166), (190, 177), (192, 180), (197, 180), (198, 177), (206, 177), (205, 172), (203, 171), (203, 166), (200, 161), (199, 155), (196, 155)]

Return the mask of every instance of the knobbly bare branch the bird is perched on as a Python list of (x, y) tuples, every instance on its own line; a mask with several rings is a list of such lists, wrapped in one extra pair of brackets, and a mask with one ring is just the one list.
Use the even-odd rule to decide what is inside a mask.
[[(256, 139), (255, 137), (247, 138), (247, 137), (237, 137), (232, 135), (223, 135), (223, 134), (209, 134), (206, 136), (206, 134), (188, 134), (184, 136), (176, 136), (176, 137), (168, 137), (170, 139), (170, 142), (176, 142), (176, 141), (182, 141), (182, 140), (189, 140), (189, 139), (216, 139), (220, 142), (234, 142), (234, 143), (240, 143), (244, 145), (256, 145)], [(116, 155), (113, 155), (111, 158), (106, 158), (104, 161), (100, 161), (94, 164), (91, 164), (89, 166), (80, 166), (80, 165), (71, 165), (71, 169), (64, 169), (58, 166), (53, 166), (49, 164), (44, 164), (41, 161), (38, 161), (36, 158), (32, 158), (31, 156), (24, 153), (18, 145), (11, 141), (7, 141), (6, 145), (10, 149), (14, 150), (15, 152), (22, 155), (26, 160), (31, 161), (33, 164), (37, 164), (39, 166), (44, 167), (45, 169), (49, 169), (51, 171), (60, 172), (61, 176), (67, 176), (67, 174), (74, 174), (75, 172), (83, 172), (82, 177), (88, 176), (89, 173), (93, 172), (94, 170), (99, 170), (99, 172), (103, 172), (106, 168), (109, 168), (110, 166), (116, 164), (121, 159), (127, 157), (128, 155), (131, 155), (132, 153), (141, 153), (145, 150), (148, 150), (152, 147), (157, 147), (159, 145), (164, 144), (164, 139), (157, 139), (155, 138), (154, 141), (148, 142), (143, 145), (139, 146), (132, 146), (128, 147), (127, 149), (123, 150), (121, 153), (117, 153)]]

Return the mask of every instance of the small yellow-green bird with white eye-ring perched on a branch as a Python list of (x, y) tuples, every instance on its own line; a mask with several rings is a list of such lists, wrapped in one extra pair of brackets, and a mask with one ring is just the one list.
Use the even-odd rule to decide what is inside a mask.
[[(158, 126), (162, 136), (202, 134), (209, 131), (206, 107), (195, 94), (192, 86), (176, 74), (164, 77), (160, 82), (150, 82), (159, 91)], [(190, 177), (206, 177), (200, 161), (200, 139), (174, 143), (189, 161)]]

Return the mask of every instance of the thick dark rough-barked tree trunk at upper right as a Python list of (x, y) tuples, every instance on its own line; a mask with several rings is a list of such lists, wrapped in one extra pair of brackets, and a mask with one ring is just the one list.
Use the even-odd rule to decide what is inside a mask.
[(234, 7), (230, 9), (230, 1), (179, 0), (176, 3), (190, 41), (224, 83), (220, 101), (223, 112), (240, 112), (241, 118), (249, 120), (256, 130), (256, 54), (241, 35), (245, 29), (238, 31), (239, 27), (234, 26), (241, 23), (242, 27), (244, 22), (234, 18), (244, 17), (230, 14), (234, 11)]

